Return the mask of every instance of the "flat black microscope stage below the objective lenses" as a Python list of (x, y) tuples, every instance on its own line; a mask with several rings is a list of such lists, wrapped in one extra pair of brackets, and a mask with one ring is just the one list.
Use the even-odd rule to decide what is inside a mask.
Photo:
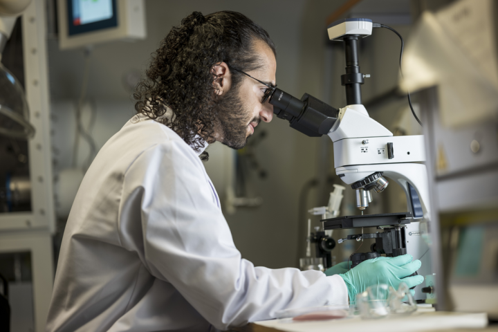
[(321, 220), (324, 230), (349, 229), (360, 227), (398, 226), (410, 223), (411, 212), (365, 214), (362, 216), (338, 216)]

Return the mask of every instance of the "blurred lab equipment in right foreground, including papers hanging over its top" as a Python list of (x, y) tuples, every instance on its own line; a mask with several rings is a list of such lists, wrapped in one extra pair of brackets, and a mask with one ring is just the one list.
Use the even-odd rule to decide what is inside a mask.
[(492, 0), (453, 1), (438, 12), (424, 12), (407, 44), (400, 81), (416, 95), (427, 123), (436, 307), (486, 312), (493, 320), (498, 317), (497, 17), (498, 3)]

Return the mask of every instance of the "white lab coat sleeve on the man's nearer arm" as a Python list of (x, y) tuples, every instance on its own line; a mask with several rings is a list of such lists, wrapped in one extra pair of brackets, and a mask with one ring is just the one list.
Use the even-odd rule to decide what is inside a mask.
[(151, 147), (124, 175), (120, 227), (138, 217), (124, 211), (139, 206), (142, 234), (122, 232), (121, 241), (139, 252), (152, 275), (171, 283), (221, 330), (273, 318), (284, 308), (347, 304), (338, 275), (255, 267), (242, 259), (201, 160), (184, 145)]

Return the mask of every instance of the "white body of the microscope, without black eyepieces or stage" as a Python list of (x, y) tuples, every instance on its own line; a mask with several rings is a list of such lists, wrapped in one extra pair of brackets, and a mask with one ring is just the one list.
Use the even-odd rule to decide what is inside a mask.
[[(430, 203), (427, 168), (423, 164), (423, 136), (393, 136), (391, 131), (370, 118), (361, 104), (340, 109), (338, 120), (328, 135), (333, 141), (335, 173), (344, 183), (351, 185), (371, 174), (382, 172), (405, 190), (407, 208), (412, 213), (412, 222), (405, 228), (407, 252), (414, 259), (421, 259), (422, 266), (418, 274), (430, 275), (429, 246), (424, 241)], [(389, 145), (392, 145), (392, 154), (389, 152)], [(408, 184), (418, 195), (422, 215), (414, 209), (413, 194)], [(415, 298), (425, 299), (421, 287), (416, 288)]]

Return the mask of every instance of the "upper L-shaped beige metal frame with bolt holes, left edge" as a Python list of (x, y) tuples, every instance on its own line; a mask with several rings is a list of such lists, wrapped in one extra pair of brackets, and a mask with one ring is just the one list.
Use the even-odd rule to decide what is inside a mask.
[(22, 16), (26, 100), (35, 136), (28, 141), (31, 212), (0, 214), (0, 232), (55, 231), (45, 2), (33, 1)]

